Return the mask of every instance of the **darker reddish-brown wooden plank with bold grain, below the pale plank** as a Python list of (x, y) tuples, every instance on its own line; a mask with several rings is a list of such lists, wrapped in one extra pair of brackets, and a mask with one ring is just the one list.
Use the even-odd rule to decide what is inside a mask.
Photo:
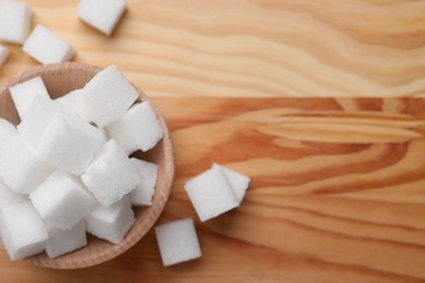
[[(170, 200), (158, 223), (193, 217), (203, 258), (161, 267), (150, 231), (122, 256), (84, 270), (9, 262), (0, 253), (0, 281), (425, 281), (425, 100), (154, 102), (171, 130), (177, 164)], [(330, 131), (323, 136), (306, 135), (305, 128), (296, 135), (271, 131), (296, 123), (312, 132), (326, 124)], [(356, 125), (357, 132), (352, 127), (340, 138), (332, 125), (341, 123)], [(393, 140), (385, 136), (365, 143), (364, 128), (369, 125), (394, 131)], [(269, 131), (263, 131), (265, 126)], [(362, 138), (351, 139), (357, 134)], [(332, 135), (339, 136), (338, 143)], [(240, 208), (202, 223), (183, 185), (214, 161), (250, 175), (252, 184)]]

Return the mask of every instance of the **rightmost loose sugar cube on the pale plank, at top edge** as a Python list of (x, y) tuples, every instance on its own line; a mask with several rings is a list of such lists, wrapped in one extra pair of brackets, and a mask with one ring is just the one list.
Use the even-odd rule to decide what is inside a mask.
[(82, 0), (76, 14), (83, 22), (110, 36), (125, 9), (125, 0)]

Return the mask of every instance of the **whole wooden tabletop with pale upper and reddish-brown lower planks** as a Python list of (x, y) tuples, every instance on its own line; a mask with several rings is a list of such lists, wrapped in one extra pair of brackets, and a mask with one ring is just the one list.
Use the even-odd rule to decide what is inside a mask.
[[(117, 64), (153, 97), (177, 160), (158, 223), (193, 217), (204, 256), (163, 268), (149, 233), (84, 270), (0, 253), (1, 282), (425, 280), (425, 101), (390, 98), (425, 95), (424, 1), (127, 0), (110, 38), (78, 1), (25, 2), (75, 61)], [(8, 47), (0, 81), (36, 65)], [(214, 161), (252, 184), (202, 223), (183, 185)]]

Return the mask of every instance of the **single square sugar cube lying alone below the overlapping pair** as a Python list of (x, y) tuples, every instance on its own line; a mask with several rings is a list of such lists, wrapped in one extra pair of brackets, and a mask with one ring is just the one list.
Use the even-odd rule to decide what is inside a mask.
[(155, 227), (162, 264), (171, 266), (202, 257), (199, 241), (191, 218)]

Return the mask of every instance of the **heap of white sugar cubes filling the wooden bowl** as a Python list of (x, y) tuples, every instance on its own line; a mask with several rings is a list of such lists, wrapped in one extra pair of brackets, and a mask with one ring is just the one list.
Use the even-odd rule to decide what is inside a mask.
[(21, 118), (0, 119), (0, 232), (11, 260), (120, 244), (132, 206), (151, 205), (158, 167), (130, 158), (162, 138), (149, 102), (116, 66), (51, 99), (40, 77), (10, 88)]

